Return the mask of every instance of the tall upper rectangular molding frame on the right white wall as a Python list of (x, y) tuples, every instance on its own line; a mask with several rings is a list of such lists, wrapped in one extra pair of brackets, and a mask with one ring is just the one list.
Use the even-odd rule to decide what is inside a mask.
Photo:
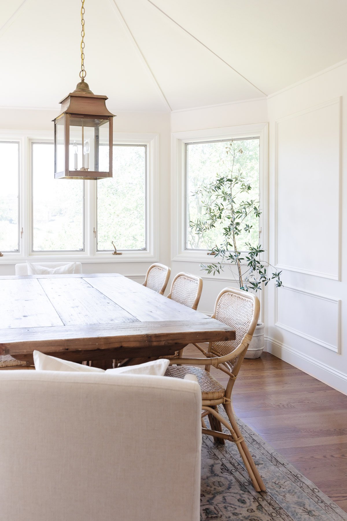
[[(289, 119), (294, 119), (297, 117), (300, 117), (304, 114), (309, 114), (311, 112), (314, 112), (316, 110), (328, 107), (330, 105), (337, 104), (339, 107), (339, 128), (338, 128), (338, 148), (339, 148), (339, 157), (338, 157), (338, 164), (339, 164), (339, 173), (338, 173), (338, 198), (337, 198), (337, 205), (338, 205), (338, 270), (337, 274), (329, 274), (321, 271), (313, 271), (309, 269), (303, 269), (296, 266), (290, 266), (285, 264), (278, 263), (278, 124), (284, 121), (288, 121)], [(294, 271), (296, 273), (303, 273), (305, 275), (313, 275), (316, 277), (323, 277), (326, 279), (332, 279), (332, 280), (341, 280), (341, 228), (342, 228), (342, 191), (341, 191), (341, 97), (333, 98), (332, 100), (329, 100), (324, 103), (320, 103), (318, 105), (315, 105), (313, 107), (306, 108), (304, 110), (301, 110), (299, 112), (290, 114), (288, 116), (285, 116), (283, 118), (277, 119), (275, 121), (275, 196), (274, 196), (274, 226), (275, 226), (275, 233), (274, 233), (274, 240), (275, 240), (275, 247), (274, 247), (274, 257), (275, 257), (275, 266), (278, 269), (285, 269), (288, 271)]]

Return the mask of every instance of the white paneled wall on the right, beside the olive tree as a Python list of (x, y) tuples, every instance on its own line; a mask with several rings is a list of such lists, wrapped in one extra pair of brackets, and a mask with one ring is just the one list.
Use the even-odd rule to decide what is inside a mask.
[(347, 65), (268, 98), (268, 350), (347, 393)]

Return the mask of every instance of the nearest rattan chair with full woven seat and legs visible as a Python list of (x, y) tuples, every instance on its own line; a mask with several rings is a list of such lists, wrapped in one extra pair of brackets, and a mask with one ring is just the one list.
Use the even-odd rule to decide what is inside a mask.
[[(242, 433), (236, 423), (231, 396), (234, 383), (243, 358), (259, 318), (260, 304), (256, 296), (246, 291), (226, 288), (218, 295), (212, 318), (236, 330), (236, 339), (226, 342), (212, 342), (205, 351), (194, 344), (206, 358), (175, 358), (170, 361), (166, 376), (184, 378), (186, 374), (195, 375), (202, 392), (202, 432), (213, 436), (215, 441), (225, 440), (236, 443), (243, 463), (256, 491), (264, 491), (263, 480), (256, 468)], [(173, 365), (175, 364), (175, 365)], [(204, 368), (193, 365), (204, 365)], [(211, 366), (216, 367), (229, 376), (226, 388), (210, 373)], [(223, 405), (229, 422), (218, 412), (218, 405)], [(204, 418), (208, 416), (210, 428)], [(230, 435), (222, 431), (222, 425), (230, 431)]]

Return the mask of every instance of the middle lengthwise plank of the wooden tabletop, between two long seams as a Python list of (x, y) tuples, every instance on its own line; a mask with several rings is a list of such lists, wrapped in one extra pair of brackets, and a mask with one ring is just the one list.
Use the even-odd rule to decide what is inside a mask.
[(82, 278), (40, 279), (39, 283), (66, 326), (137, 321)]

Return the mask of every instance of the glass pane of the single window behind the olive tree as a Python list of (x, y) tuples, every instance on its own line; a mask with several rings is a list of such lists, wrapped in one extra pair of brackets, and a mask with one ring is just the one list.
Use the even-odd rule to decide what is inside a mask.
[[(196, 194), (202, 185), (215, 181), (217, 175), (229, 177), (232, 172), (233, 175), (243, 172), (252, 190), (236, 194), (235, 203), (259, 201), (259, 143), (259, 138), (186, 143), (186, 250), (211, 250), (216, 244), (223, 243), (223, 222), (202, 235), (196, 234), (189, 226), (190, 221), (205, 218), (201, 196)], [(256, 245), (259, 241), (259, 218), (251, 214), (247, 219), (252, 228), (250, 233), (242, 232), (237, 238), (241, 251), (247, 250), (247, 242)]]

